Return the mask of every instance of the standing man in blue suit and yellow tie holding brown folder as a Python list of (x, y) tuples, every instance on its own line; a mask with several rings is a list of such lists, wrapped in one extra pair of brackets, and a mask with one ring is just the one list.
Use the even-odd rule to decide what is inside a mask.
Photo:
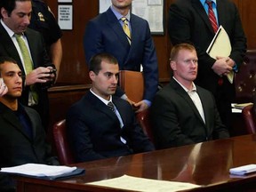
[[(143, 100), (134, 104), (128, 98), (139, 108), (137, 112), (140, 112), (151, 105), (157, 91), (158, 66), (155, 45), (148, 21), (130, 12), (132, 0), (111, 2), (108, 11), (90, 20), (85, 28), (85, 58), (89, 63), (94, 54), (108, 52), (116, 57), (120, 70), (140, 71), (142, 65), (145, 79)], [(124, 27), (129, 28), (129, 35), (125, 34)], [(116, 90), (116, 95), (127, 99), (120, 88)]]

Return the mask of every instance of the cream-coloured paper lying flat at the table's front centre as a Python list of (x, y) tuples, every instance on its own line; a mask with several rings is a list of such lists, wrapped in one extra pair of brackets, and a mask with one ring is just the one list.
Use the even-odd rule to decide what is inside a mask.
[(122, 188), (127, 190), (141, 191), (141, 192), (174, 192), (180, 190), (186, 190), (190, 188), (200, 188), (201, 186), (186, 183), (175, 182), (168, 180), (151, 180), (145, 178), (132, 177), (123, 175), (118, 178), (109, 180), (100, 180), (96, 182), (86, 183), (90, 185), (108, 187), (108, 188)]

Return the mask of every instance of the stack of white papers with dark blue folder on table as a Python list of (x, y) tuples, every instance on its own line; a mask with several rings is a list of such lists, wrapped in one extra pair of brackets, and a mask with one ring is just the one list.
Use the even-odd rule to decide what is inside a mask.
[(46, 180), (64, 179), (84, 173), (84, 169), (60, 165), (22, 164), (13, 167), (3, 167), (0, 173), (9, 173)]

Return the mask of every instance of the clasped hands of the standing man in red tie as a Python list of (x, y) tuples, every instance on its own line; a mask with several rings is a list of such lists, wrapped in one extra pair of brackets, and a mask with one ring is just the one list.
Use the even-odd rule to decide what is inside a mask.
[(228, 73), (233, 70), (234, 66), (235, 66), (235, 61), (230, 59), (229, 57), (217, 56), (217, 60), (212, 65), (212, 70), (218, 76), (227, 76)]

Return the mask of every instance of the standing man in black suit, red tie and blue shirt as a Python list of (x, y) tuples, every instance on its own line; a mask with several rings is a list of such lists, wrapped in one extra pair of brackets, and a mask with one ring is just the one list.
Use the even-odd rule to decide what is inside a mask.
[[(220, 118), (231, 127), (231, 101), (235, 99), (235, 85), (227, 79), (237, 72), (246, 52), (246, 38), (236, 5), (230, 0), (210, 0), (217, 26), (227, 31), (232, 51), (227, 58), (212, 59), (206, 50), (215, 32), (209, 20), (209, 0), (176, 0), (169, 10), (168, 31), (172, 44), (190, 43), (198, 55), (198, 76), (195, 83), (211, 91), (220, 111)], [(210, 5), (211, 6), (211, 5)]]

